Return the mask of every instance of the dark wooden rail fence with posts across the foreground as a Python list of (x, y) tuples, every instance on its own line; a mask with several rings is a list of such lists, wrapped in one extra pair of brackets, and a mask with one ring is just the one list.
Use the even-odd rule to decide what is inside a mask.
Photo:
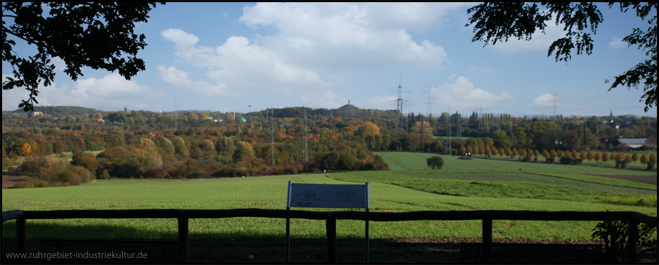
[[(187, 241), (189, 219), (216, 219), (231, 217), (264, 217), (282, 219), (325, 220), (327, 227), (327, 261), (336, 262), (336, 220), (361, 221), (420, 221), (420, 220), (482, 220), (483, 243), (492, 243), (493, 220), (530, 220), (530, 221), (604, 221), (607, 218), (628, 219), (628, 259), (635, 260), (636, 232), (639, 223), (656, 223), (656, 217), (638, 212), (536, 212), (536, 211), (423, 211), (423, 212), (311, 212), (300, 210), (54, 210), (2, 212), (2, 222), (16, 220), (17, 252), (26, 253), (26, 220), (28, 219), (178, 219), (178, 240), (183, 242), (187, 259)], [(25, 261), (23, 261), (25, 262)]]

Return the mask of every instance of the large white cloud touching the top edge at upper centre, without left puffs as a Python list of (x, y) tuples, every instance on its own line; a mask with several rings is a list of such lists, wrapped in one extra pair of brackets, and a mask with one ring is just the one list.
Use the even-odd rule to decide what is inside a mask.
[[(447, 53), (428, 40), (418, 44), (407, 31), (439, 24), (458, 5), (428, 3), (257, 3), (243, 8), (239, 21), (268, 26), (276, 35), (264, 47), (287, 60), (332, 74), (382, 69), (401, 63), (441, 69)], [(391, 15), (391, 16), (390, 16)]]

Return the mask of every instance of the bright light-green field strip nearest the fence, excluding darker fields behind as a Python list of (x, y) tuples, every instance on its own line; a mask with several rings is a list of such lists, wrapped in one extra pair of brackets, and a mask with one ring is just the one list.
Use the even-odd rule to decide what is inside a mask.
[[(486, 198), (448, 195), (402, 187), (383, 178), (401, 178), (386, 172), (336, 173), (307, 176), (275, 176), (219, 180), (98, 180), (77, 187), (10, 189), (3, 191), (2, 210), (76, 209), (285, 209), (288, 180), (309, 183), (348, 184), (340, 179), (370, 181), (371, 210), (397, 212), (425, 210), (538, 210), (538, 211), (635, 211), (656, 216), (656, 207), (615, 205), (547, 198)], [(385, 174), (379, 174), (385, 173)], [(336, 179), (335, 179), (336, 178)], [(411, 180), (428, 180), (416, 178)], [(513, 187), (514, 188), (514, 187)], [(643, 189), (640, 189), (643, 190)], [(642, 196), (644, 191), (630, 196)], [(655, 191), (656, 194), (656, 191)], [(611, 195), (615, 198), (617, 194)], [(656, 196), (656, 195), (655, 195)], [(656, 197), (655, 197), (656, 198)], [(656, 199), (655, 199), (656, 200)], [(309, 210), (307, 208), (300, 210)], [(327, 209), (319, 209), (325, 211)], [(510, 225), (514, 223), (515, 225)], [(175, 220), (33, 220), (28, 238), (176, 238)], [(294, 220), (293, 237), (324, 237), (325, 223)], [(508, 225), (506, 225), (508, 223)], [(569, 223), (566, 227), (566, 223)], [(533, 239), (588, 239), (594, 222), (495, 221), (495, 237)], [(363, 237), (363, 222), (339, 221), (339, 237)], [(57, 227), (58, 229), (53, 229)], [(510, 227), (510, 228), (508, 228)], [(479, 237), (479, 221), (382, 222), (371, 225), (371, 237)], [(3, 223), (3, 238), (15, 237), (13, 222)], [(194, 219), (191, 239), (221, 237), (283, 237), (284, 220), (259, 218)]]

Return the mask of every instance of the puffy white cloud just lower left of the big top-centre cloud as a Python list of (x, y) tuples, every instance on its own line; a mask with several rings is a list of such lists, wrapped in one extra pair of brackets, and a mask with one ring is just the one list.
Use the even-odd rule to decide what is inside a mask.
[[(262, 46), (250, 44), (246, 37), (232, 36), (222, 44), (212, 49), (196, 46), (194, 35), (181, 30), (169, 29), (161, 33), (167, 40), (175, 42), (176, 55), (185, 62), (207, 69), (206, 76), (218, 84), (212, 87), (206, 81), (192, 81), (181, 71), (159, 69), (163, 80), (175, 82), (178, 87), (189, 84), (180, 83), (181, 79), (196, 84), (202, 84), (205, 89), (196, 88), (196, 92), (212, 92), (219, 94), (237, 94), (241, 92), (301, 92), (309, 87), (324, 87), (327, 83), (320, 75), (309, 69), (302, 69), (286, 62), (286, 56)], [(172, 37), (177, 36), (177, 37)], [(304, 44), (304, 41), (298, 43)], [(171, 68), (171, 67), (170, 67)], [(230, 91), (234, 91), (229, 93)]]

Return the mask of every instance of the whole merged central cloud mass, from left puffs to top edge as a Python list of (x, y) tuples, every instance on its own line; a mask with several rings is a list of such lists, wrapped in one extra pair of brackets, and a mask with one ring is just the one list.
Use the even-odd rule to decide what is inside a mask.
[[(174, 54), (204, 69), (207, 80), (188, 76), (184, 67), (159, 66), (166, 83), (197, 94), (304, 94), (303, 101), (327, 99), (339, 107), (328, 87), (343, 74), (397, 69), (412, 65), (442, 69), (448, 56), (429, 40), (413, 40), (408, 31), (443, 24), (443, 16), (465, 4), (445, 3), (257, 3), (243, 8), (239, 22), (264, 27), (270, 35), (256, 40), (234, 35), (216, 46), (183, 29), (161, 32), (174, 43)], [(188, 71), (188, 70), (187, 70)], [(331, 80), (331, 81), (330, 81)], [(205, 87), (200, 89), (199, 87)], [(313, 96), (311, 96), (313, 95)], [(339, 96), (340, 97), (340, 96)], [(316, 100), (317, 101), (317, 100)]]

